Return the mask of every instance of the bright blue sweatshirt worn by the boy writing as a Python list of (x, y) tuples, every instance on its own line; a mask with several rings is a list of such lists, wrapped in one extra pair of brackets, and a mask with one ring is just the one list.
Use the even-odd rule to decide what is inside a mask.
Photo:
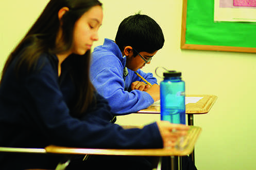
[[(92, 53), (91, 81), (99, 94), (105, 97), (116, 115), (137, 112), (150, 106), (154, 100), (145, 91), (131, 90), (131, 83), (142, 81), (134, 71), (125, 67), (126, 56), (109, 39), (104, 45), (95, 47)], [(124, 70), (128, 75), (124, 75)], [(149, 83), (156, 84), (152, 73), (137, 70)]]

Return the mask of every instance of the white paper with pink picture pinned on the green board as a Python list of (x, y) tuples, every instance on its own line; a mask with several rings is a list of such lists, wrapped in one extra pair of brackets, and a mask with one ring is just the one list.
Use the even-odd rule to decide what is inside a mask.
[(215, 0), (214, 21), (256, 22), (256, 0)]

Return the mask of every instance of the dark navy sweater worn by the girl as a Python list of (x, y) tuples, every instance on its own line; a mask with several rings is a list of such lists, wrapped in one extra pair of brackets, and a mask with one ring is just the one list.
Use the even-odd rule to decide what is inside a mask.
[[(69, 56), (74, 57), (74, 56)], [(157, 124), (123, 129), (110, 123), (108, 102), (95, 92), (97, 103), (84, 116), (70, 114), (75, 86), (69, 63), (44, 53), (30, 73), (15, 72), (17, 59), (7, 69), (0, 86), (0, 146), (44, 148), (62, 145), (84, 148), (161, 148)], [(0, 169), (55, 168), (59, 157), (48, 154), (0, 153)], [(14, 163), (15, 162), (15, 163)]]

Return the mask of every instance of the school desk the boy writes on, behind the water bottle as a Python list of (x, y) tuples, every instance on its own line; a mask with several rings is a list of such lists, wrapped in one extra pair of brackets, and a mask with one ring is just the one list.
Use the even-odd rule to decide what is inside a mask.
[[(207, 114), (213, 104), (215, 103), (217, 96), (215, 95), (186, 95), (185, 107), (187, 115), (187, 124), (194, 125), (194, 115)], [(146, 109), (140, 110), (137, 113), (142, 114), (160, 114), (160, 101), (155, 102)], [(191, 159), (195, 162), (195, 151), (190, 154)]]

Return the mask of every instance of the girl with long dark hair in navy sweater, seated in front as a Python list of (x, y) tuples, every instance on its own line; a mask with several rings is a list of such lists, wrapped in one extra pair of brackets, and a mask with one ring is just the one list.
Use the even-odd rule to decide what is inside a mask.
[[(161, 148), (175, 143), (173, 128), (188, 129), (161, 121), (142, 129), (124, 129), (111, 122), (114, 115), (108, 102), (98, 95), (89, 79), (90, 49), (98, 40), (102, 20), (103, 11), (97, 0), (49, 1), (4, 66), (0, 83), (0, 146)], [(0, 169), (54, 169), (60, 159), (48, 154), (1, 153)], [(92, 164), (97, 169), (102, 164), (93, 162), (105, 160), (106, 168), (113, 164), (106, 160), (115, 159), (93, 157), (91, 162), (82, 162), (77, 158), (74, 163), (84, 167)], [(151, 168), (144, 159), (138, 160), (123, 162), (127, 162), (127, 168)]]

